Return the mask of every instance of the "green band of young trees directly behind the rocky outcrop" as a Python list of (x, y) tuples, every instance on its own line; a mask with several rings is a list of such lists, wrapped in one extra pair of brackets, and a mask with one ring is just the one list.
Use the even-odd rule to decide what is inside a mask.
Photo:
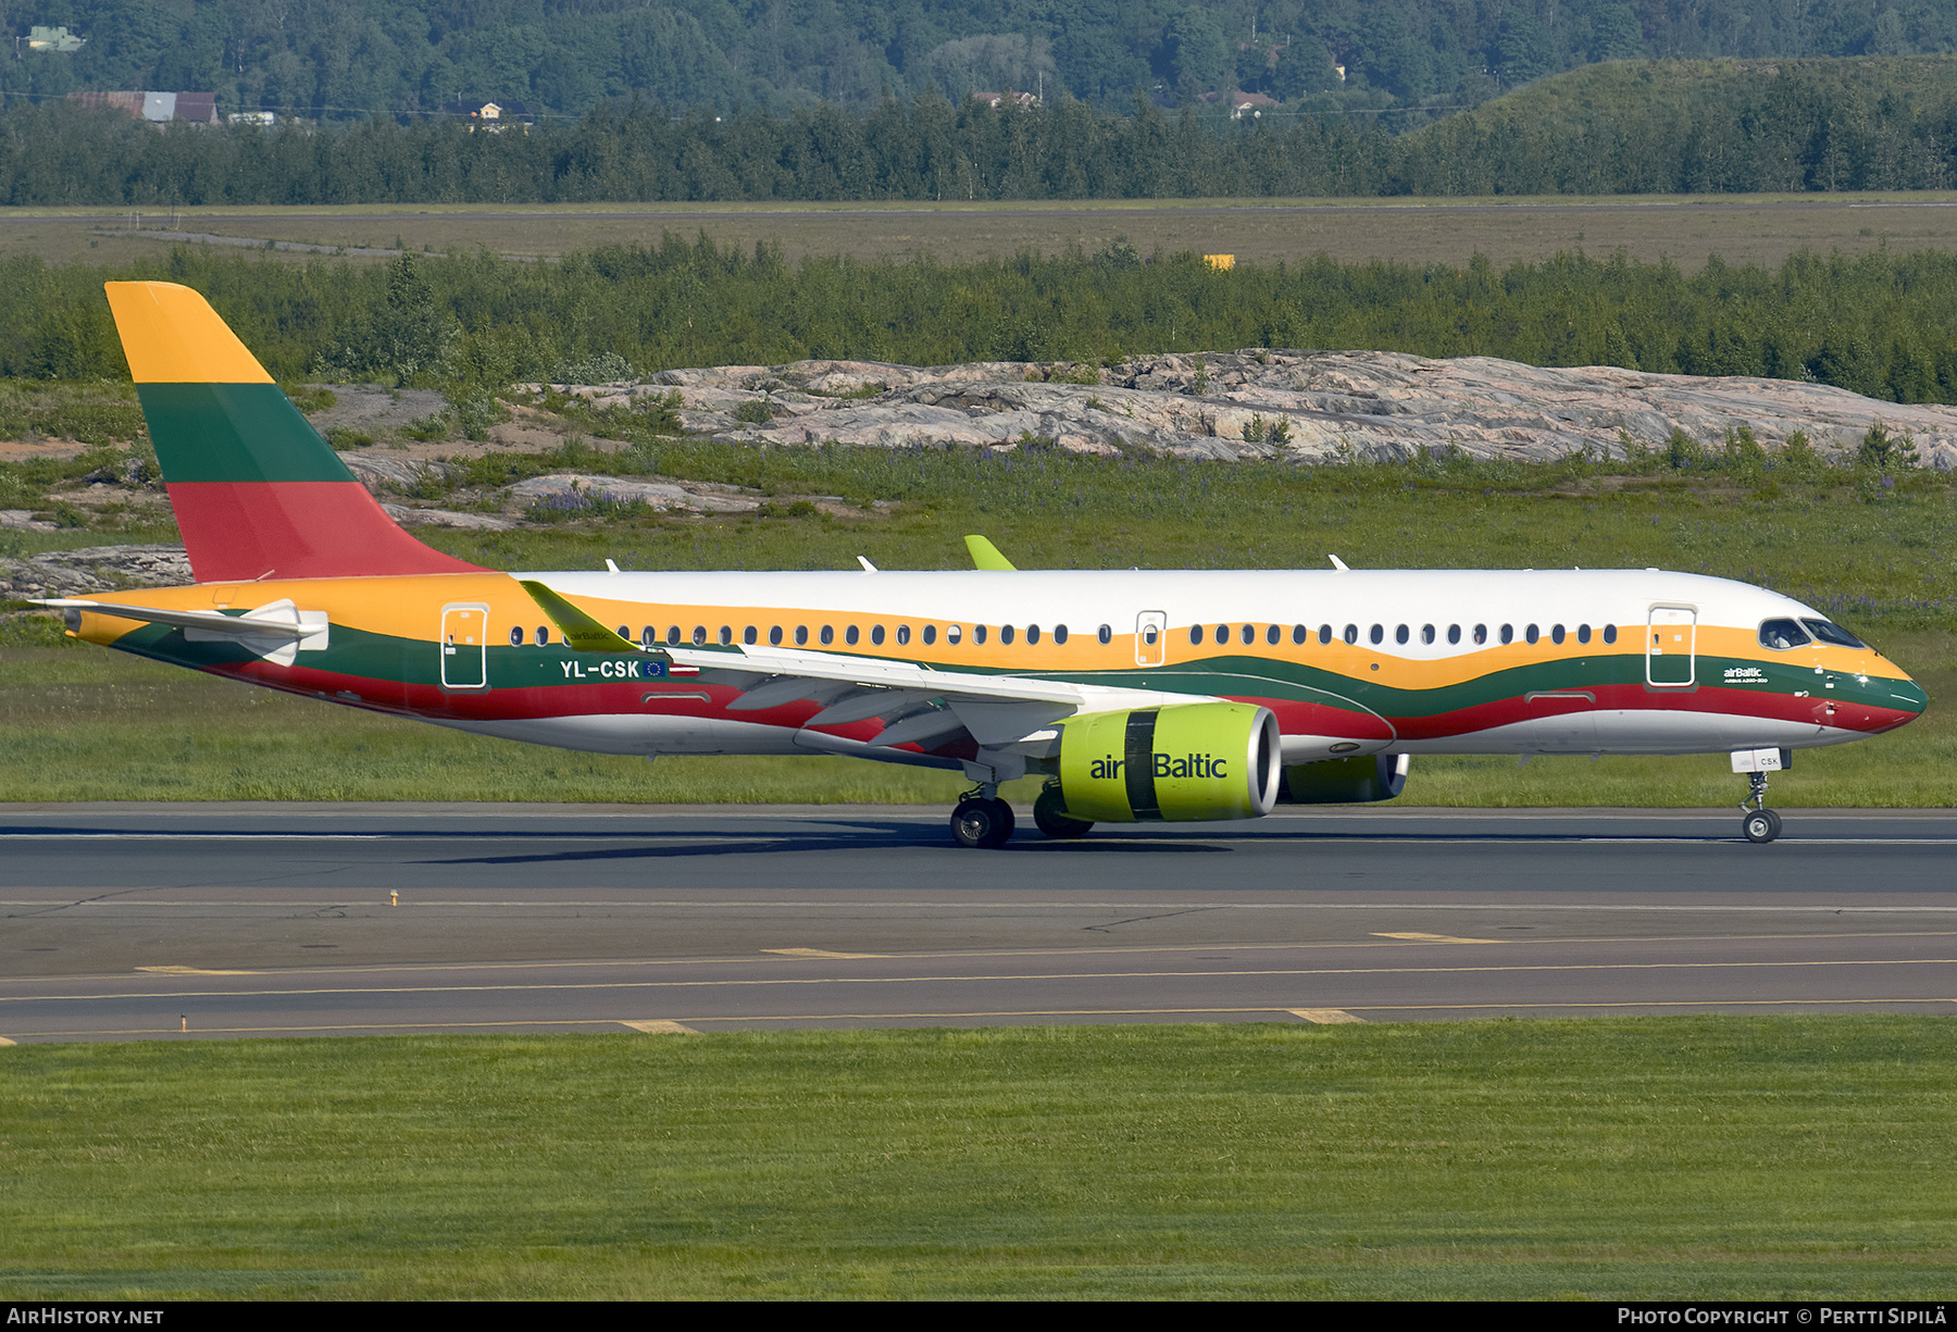
[[(1495, 270), (1239, 264), (1096, 254), (867, 264), (728, 250), (705, 237), (573, 252), (305, 266), (178, 248), (133, 268), (0, 264), (0, 377), (121, 379), (102, 284), (204, 291), (284, 381), (380, 379), (460, 403), (611, 354), (624, 370), (861, 358), (1108, 362), (1252, 346), (1501, 356), (1814, 379), (1902, 403), (1957, 401), (1957, 254), (1797, 254), (1697, 274), (1622, 254)], [(611, 364), (618, 364), (613, 360)]]

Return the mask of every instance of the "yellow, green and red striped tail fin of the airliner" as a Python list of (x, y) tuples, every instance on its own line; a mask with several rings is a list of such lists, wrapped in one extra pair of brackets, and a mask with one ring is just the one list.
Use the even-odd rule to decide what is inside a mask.
[(202, 295), (106, 288), (200, 583), (478, 571), (403, 532)]

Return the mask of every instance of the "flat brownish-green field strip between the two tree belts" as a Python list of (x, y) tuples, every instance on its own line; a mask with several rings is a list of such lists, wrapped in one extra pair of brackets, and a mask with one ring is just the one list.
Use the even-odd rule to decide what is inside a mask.
[[(114, 209), (10, 209), (0, 254), (49, 262), (127, 262), (157, 256), (160, 233), (207, 233), (325, 246), (401, 244), (448, 252), (564, 254), (597, 244), (652, 243), (667, 231), (705, 231), (750, 250), (781, 244), (793, 258), (945, 260), (1022, 250), (1088, 252), (1127, 239), (1143, 254), (1227, 252), (1260, 264), (1331, 254), (1409, 264), (1462, 264), (1476, 252), (1497, 268), (1585, 250), (1669, 256), (1697, 270), (1708, 254), (1728, 264), (1775, 266), (1798, 250), (1857, 254), (1957, 244), (1957, 194), (1845, 196), (1634, 196), (1503, 200), (1080, 200), (1039, 203), (607, 203), (607, 205), (341, 205), (182, 209), (174, 221)], [(278, 254), (305, 262), (305, 254)]]

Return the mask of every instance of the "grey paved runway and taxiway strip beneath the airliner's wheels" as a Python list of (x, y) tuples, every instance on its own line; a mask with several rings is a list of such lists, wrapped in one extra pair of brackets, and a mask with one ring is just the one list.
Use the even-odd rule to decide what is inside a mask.
[(0, 1037), (1957, 1011), (1957, 816), (0, 812)]

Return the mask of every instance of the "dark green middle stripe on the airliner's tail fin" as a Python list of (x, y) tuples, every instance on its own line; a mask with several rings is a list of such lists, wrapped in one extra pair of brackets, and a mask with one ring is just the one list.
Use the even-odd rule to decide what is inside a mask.
[(162, 479), (352, 481), (276, 383), (139, 383)]

